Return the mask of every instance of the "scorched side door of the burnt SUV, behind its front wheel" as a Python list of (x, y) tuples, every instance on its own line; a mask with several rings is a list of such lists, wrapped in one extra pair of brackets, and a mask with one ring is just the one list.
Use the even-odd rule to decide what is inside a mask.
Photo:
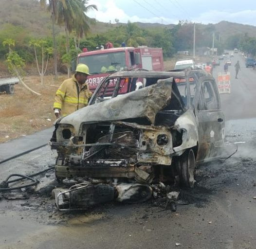
[(217, 85), (212, 78), (203, 77), (197, 92), (195, 115), (198, 121), (197, 161), (217, 158), (224, 143), (225, 120), (220, 110)]

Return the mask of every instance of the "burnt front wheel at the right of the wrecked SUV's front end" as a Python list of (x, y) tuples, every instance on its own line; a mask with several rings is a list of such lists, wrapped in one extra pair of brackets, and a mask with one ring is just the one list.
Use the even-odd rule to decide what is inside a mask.
[(196, 168), (195, 154), (192, 149), (186, 150), (182, 156), (177, 159), (176, 170), (180, 177), (183, 187), (193, 188), (195, 179), (194, 172)]

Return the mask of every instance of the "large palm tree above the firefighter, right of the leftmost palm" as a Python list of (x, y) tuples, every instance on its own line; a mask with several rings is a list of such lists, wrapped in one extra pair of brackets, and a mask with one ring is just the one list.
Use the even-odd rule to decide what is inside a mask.
[[(78, 37), (84, 36), (90, 29), (90, 18), (85, 15), (91, 9), (97, 10), (94, 4), (87, 5), (88, 0), (57, 0), (56, 21), (65, 27), (66, 32), (66, 53), (69, 54), (70, 43), (69, 34), (75, 31)], [(70, 69), (68, 68), (68, 75)]]

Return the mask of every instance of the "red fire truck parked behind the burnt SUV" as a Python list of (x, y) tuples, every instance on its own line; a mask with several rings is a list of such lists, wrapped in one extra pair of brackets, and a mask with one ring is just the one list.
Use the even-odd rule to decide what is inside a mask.
[(164, 71), (162, 48), (146, 46), (83, 52), (78, 54), (78, 63), (84, 63), (89, 67), (91, 75), (88, 77), (87, 83), (92, 92), (106, 76), (114, 71), (135, 69)]

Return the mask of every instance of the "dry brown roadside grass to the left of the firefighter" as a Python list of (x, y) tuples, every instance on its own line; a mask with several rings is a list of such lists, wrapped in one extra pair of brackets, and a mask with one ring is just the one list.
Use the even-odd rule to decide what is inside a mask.
[[(36, 96), (21, 85), (15, 86), (14, 95), (0, 94), (0, 142), (32, 134), (53, 125), (55, 116), (53, 103), (57, 87), (67, 78), (60, 76), (54, 82), (53, 76), (45, 76), (41, 86), (38, 76), (26, 77), (24, 82), (41, 93)], [(50, 119), (51, 121), (49, 121)]]

